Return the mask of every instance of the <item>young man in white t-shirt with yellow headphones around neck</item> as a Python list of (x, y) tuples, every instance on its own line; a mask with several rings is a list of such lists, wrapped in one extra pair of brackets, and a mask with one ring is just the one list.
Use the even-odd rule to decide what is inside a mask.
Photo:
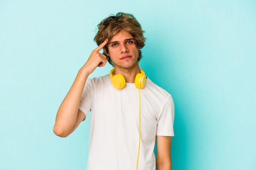
[[(70, 135), (91, 111), (87, 170), (171, 170), (173, 99), (139, 68), (143, 33), (128, 13), (102, 20), (94, 38), (99, 46), (58, 110), (54, 133), (60, 137)], [(110, 74), (88, 79), (107, 61), (114, 66)]]

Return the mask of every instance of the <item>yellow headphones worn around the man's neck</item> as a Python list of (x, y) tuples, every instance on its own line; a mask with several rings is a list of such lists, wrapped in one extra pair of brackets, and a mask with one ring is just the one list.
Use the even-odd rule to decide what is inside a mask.
[[(146, 75), (143, 70), (140, 70), (140, 73), (138, 73), (135, 77), (135, 87), (137, 88), (144, 88), (146, 84)], [(112, 85), (114, 86), (115, 89), (122, 89), (125, 87), (125, 79), (124, 76), (121, 74), (114, 75), (115, 73), (115, 68), (113, 68), (110, 71), (110, 80), (112, 82)]]

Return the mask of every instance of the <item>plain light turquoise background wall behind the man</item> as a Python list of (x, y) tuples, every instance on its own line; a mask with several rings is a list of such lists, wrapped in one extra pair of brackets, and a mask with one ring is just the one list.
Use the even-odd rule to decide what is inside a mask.
[(52, 128), (96, 25), (120, 11), (146, 31), (140, 67), (173, 95), (173, 170), (255, 170), (254, 0), (0, 0), (0, 170), (86, 169), (89, 119), (67, 138)]

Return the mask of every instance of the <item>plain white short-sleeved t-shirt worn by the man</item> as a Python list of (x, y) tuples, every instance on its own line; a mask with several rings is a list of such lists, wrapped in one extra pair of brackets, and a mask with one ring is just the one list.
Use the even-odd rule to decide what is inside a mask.
[[(138, 170), (155, 170), (155, 137), (174, 136), (171, 95), (146, 79), (140, 89)], [(87, 170), (136, 170), (139, 146), (139, 89), (126, 83), (115, 89), (110, 75), (88, 79), (79, 109), (91, 110)]]

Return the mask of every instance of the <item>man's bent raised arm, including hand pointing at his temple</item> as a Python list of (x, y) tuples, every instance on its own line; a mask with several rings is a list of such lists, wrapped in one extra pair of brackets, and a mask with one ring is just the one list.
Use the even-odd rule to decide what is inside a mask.
[(107, 42), (108, 40), (105, 40), (95, 50), (93, 50), (85, 65), (79, 70), (70, 91), (67, 93), (58, 109), (53, 128), (56, 135), (60, 137), (67, 137), (85, 118), (85, 114), (79, 110), (83, 88), (88, 76), (98, 66), (105, 66), (107, 62), (106, 56), (99, 52), (107, 44)]

